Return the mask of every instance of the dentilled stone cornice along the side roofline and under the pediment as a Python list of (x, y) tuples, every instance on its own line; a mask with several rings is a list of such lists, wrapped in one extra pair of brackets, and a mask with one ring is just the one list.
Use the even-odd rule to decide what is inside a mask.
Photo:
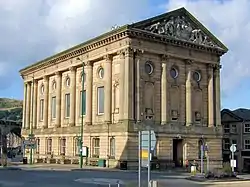
[[(39, 61), (33, 65), (30, 65), (20, 70), (20, 74), (23, 76), (29, 72), (34, 72), (41, 68), (46, 68), (51, 65), (55, 65), (60, 62), (66, 61), (68, 59), (79, 57), (80, 55), (86, 54), (89, 51), (95, 50), (97, 48), (108, 45), (109, 43), (118, 41), (126, 37), (136, 37), (136, 38), (142, 38), (142, 39), (146, 39), (146, 40), (154, 41), (154, 42), (168, 43), (174, 46), (181, 46), (181, 47), (187, 47), (187, 48), (192, 48), (196, 50), (202, 50), (202, 51), (214, 53), (217, 55), (223, 55), (226, 52), (219, 48), (205, 47), (205, 46), (197, 45), (188, 41), (181, 41), (181, 40), (166, 38), (164, 36), (153, 34), (147, 31), (143, 31), (143, 30), (139, 30), (135, 28), (128, 28), (128, 26), (125, 25), (123, 27), (120, 27), (119, 29), (113, 30), (109, 33), (101, 35), (97, 38), (89, 40), (85, 43), (77, 45), (66, 51), (58, 53), (52, 57)], [(126, 52), (130, 54), (130, 51), (125, 50), (125, 54), (127, 54)]]

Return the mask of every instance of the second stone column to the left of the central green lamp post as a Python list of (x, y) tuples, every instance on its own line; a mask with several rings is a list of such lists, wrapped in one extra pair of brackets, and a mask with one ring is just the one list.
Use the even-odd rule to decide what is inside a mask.
[(62, 73), (56, 72), (56, 127), (61, 126), (61, 86)]

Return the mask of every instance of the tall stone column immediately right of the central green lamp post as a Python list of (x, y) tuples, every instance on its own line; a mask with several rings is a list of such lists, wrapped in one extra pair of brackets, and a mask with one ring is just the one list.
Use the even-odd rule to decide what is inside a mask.
[[(86, 124), (92, 123), (92, 82), (93, 82), (93, 64), (87, 62), (86, 66)], [(84, 76), (84, 75), (83, 75)]]

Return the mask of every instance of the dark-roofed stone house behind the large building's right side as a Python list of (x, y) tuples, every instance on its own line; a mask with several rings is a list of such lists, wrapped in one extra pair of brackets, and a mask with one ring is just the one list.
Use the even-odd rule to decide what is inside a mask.
[(237, 145), (234, 159), (237, 161), (238, 171), (250, 172), (250, 109), (221, 111), (221, 124), (223, 126), (223, 161), (231, 159), (230, 146)]

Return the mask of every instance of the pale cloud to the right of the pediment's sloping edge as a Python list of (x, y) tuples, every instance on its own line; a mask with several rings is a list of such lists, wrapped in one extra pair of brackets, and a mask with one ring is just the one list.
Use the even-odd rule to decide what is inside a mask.
[(222, 92), (233, 93), (243, 79), (250, 77), (250, 1), (169, 0), (165, 7), (187, 8), (228, 46), (229, 52), (222, 57)]

